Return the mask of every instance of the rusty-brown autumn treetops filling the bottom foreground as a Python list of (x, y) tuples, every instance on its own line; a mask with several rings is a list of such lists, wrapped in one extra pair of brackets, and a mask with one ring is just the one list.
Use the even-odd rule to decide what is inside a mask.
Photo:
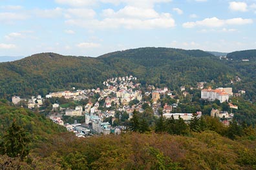
[(255, 140), (233, 141), (213, 131), (191, 137), (155, 133), (91, 138), (62, 135), (42, 143), (27, 162), (3, 155), (0, 160), (9, 167), (19, 167), (16, 169), (253, 169), (255, 146)]

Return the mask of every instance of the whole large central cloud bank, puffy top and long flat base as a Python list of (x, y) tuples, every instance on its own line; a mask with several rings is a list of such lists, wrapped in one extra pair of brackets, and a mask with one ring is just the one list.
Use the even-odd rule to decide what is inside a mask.
[(169, 13), (159, 14), (151, 8), (138, 8), (125, 6), (114, 11), (112, 9), (103, 10), (103, 19), (81, 19), (72, 18), (65, 21), (66, 24), (81, 26), (85, 28), (127, 28), (127, 29), (151, 29), (151, 28), (171, 28), (175, 26), (175, 20)]

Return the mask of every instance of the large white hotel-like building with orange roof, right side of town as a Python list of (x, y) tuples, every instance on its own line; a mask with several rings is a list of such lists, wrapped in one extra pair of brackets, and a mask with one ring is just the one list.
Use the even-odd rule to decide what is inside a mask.
[[(209, 101), (220, 100), (220, 102), (228, 101), (229, 94), (232, 93), (232, 88), (228, 88), (228, 93), (225, 91), (226, 88), (218, 88), (212, 90), (211, 88), (201, 90), (201, 98)], [(233, 93), (232, 93), (233, 94)]]

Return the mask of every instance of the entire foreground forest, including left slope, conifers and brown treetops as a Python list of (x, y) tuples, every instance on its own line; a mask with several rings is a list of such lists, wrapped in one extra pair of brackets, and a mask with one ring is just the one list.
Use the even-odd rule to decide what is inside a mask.
[[(1, 169), (255, 169), (256, 131), (216, 118), (158, 118), (142, 131), (77, 138), (51, 120), (1, 100)], [(135, 115), (137, 113), (134, 113)], [(139, 116), (138, 116), (139, 118)], [(143, 124), (140, 122), (139, 124)], [(138, 127), (138, 129), (137, 129)], [(145, 127), (145, 126), (144, 126)], [(145, 129), (145, 128), (144, 128)]]

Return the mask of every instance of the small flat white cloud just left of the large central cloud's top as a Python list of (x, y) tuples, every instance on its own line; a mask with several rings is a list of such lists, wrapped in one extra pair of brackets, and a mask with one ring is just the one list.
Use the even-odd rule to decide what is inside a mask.
[(79, 18), (93, 18), (96, 12), (91, 9), (86, 8), (70, 8), (67, 10), (66, 17), (79, 17)]

